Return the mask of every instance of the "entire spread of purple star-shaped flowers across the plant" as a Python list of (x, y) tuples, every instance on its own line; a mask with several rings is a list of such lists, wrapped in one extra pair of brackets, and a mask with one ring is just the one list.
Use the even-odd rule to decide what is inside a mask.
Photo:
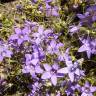
[[(38, 9), (45, 17), (52, 17), (52, 20), (58, 18), (60, 21), (57, 1), (31, 0), (31, 3), (33, 6), (40, 3)], [(44, 23), (25, 20), (23, 27), (14, 27), (14, 33), (9, 36), (7, 42), (0, 41), (0, 62), (3, 63), (4, 60), (7, 62), (10, 58), (9, 64), (11, 59), (15, 59), (20, 65), (20, 74), (30, 76), (31, 80), (27, 84), (30, 92), (27, 96), (95, 96), (96, 87), (92, 80), (87, 78), (86, 68), (82, 68), (83, 61), (80, 62), (82, 58), (78, 59), (73, 54), (75, 49), (77, 54), (86, 52), (88, 60), (93, 54), (96, 55), (96, 39), (90, 34), (87, 38), (85, 34), (78, 35), (81, 27), (92, 27), (96, 21), (95, 11), (96, 6), (91, 6), (84, 14), (76, 14), (80, 19), (77, 25), (65, 24), (69, 26), (69, 29), (65, 29), (70, 38), (67, 38), (65, 32), (64, 36), (57, 32), (53, 26), (46, 27)], [(63, 39), (60, 40), (61, 38)], [(81, 46), (69, 43), (71, 41), (67, 42), (73, 38), (78, 39), (79, 42), (76, 43)]]

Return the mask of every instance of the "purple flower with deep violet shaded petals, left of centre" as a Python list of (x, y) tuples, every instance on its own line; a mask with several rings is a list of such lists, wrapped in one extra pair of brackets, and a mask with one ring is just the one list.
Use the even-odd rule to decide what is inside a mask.
[(26, 65), (32, 64), (37, 65), (41, 60), (45, 58), (45, 53), (41, 46), (34, 44), (32, 47), (32, 54), (25, 54)]

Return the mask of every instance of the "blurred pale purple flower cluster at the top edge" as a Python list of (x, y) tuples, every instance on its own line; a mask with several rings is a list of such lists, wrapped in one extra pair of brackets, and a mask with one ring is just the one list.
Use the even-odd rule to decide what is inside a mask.
[[(54, 16), (59, 17), (59, 6), (56, 6), (55, 3), (58, 3), (58, 0), (42, 0), (42, 3), (38, 0), (32, 0), (32, 4), (38, 4), (39, 11), (43, 12), (46, 17)], [(51, 3), (54, 3), (52, 5)]]

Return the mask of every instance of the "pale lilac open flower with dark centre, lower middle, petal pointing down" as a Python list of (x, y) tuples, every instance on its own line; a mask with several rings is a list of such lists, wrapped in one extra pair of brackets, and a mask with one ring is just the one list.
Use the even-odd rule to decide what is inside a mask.
[(58, 65), (54, 64), (52, 67), (48, 64), (44, 64), (44, 73), (42, 74), (41, 78), (46, 80), (46, 79), (51, 79), (52, 84), (55, 86), (57, 84), (57, 70), (58, 70)]

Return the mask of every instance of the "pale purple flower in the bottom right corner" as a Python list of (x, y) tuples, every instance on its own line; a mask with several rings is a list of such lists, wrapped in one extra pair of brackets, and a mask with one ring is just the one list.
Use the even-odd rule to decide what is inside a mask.
[(93, 92), (96, 92), (96, 87), (89, 84), (88, 81), (85, 82), (85, 85), (82, 87), (81, 96), (94, 96)]

